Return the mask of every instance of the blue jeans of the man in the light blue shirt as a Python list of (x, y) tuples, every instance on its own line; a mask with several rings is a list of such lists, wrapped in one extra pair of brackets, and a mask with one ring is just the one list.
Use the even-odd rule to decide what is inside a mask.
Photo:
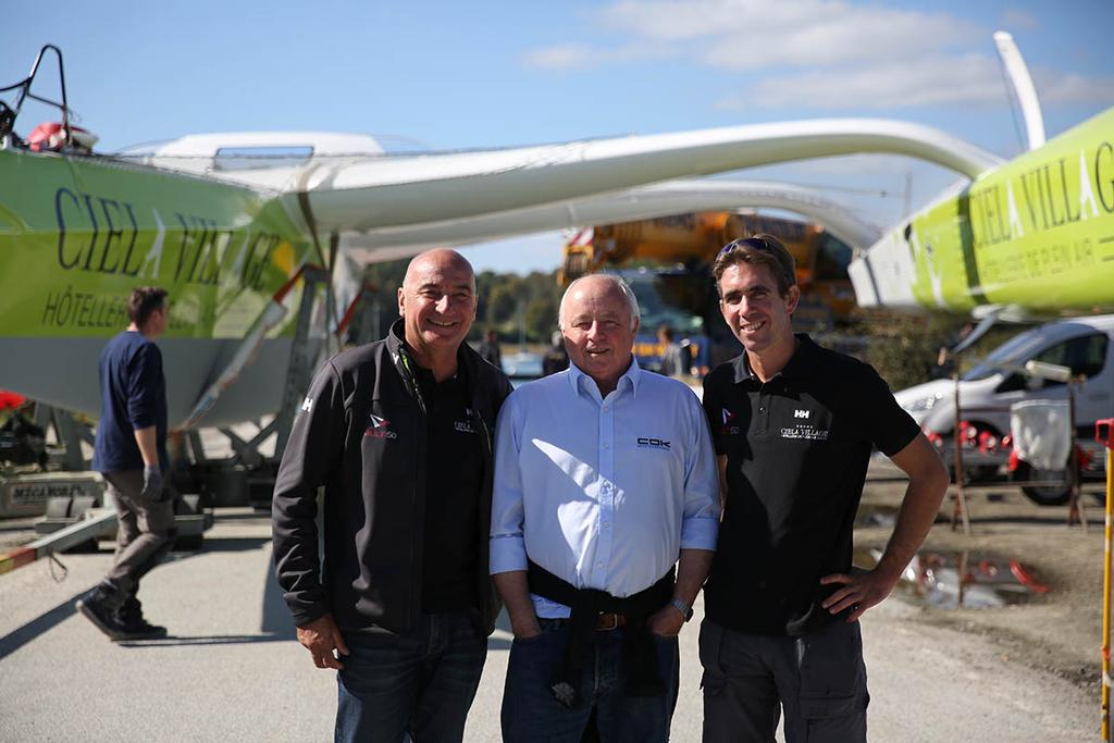
[(658, 674), (666, 692), (659, 696), (628, 696), (624, 691), (623, 628), (596, 632), (594, 656), (577, 680), (578, 701), (566, 707), (554, 698), (549, 685), (560, 668), (569, 626), (559, 619), (540, 619), (541, 634), (515, 639), (510, 647), (507, 685), (502, 693), (502, 737), (507, 743), (568, 741), (578, 743), (596, 708), (599, 737), (605, 743), (647, 743), (670, 737), (670, 721), (677, 705), (678, 655), (676, 637), (655, 637)]

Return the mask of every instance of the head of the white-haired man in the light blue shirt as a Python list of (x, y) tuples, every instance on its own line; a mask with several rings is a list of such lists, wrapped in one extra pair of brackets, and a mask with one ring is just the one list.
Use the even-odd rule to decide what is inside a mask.
[(561, 333), (569, 359), (595, 380), (600, 394), (615, 389), (631, 365), (638, 331), (631, 305), (613, 281), (587, 276), (569, 287), (561, 302)]

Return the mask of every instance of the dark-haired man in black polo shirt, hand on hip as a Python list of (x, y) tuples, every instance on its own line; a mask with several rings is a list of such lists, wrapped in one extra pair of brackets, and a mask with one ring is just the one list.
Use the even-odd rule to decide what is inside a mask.
[[(866, 741), (859, 617), (893, 588), (948, 485), (931, 444), (871, 369), (794, 334), (793, 258), (775, 238), (715, 261), (720, 307), (744, 352), (704, 380), (724, 511), (705, 585), (704, 740)], [(872, 570), (851, 539), (877, 447), (909, 475)]]

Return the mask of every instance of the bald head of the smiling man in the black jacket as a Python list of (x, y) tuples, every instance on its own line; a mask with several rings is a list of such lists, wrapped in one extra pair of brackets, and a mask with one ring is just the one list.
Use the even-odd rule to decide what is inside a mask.
[(399, 289), (407, 343), (419, 362), (456, 355), (476, 320), (476, 277), (459, 253), (438, 250), (410, 262)]

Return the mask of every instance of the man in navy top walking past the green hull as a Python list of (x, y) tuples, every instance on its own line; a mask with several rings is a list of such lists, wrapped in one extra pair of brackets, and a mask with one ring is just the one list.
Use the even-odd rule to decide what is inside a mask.
[(113, 639), (166, 636), (148, 623), (136, 594), (139, 579), (174, 545), (174, 504), (164, 477), (166, 381), (155, 341), (166, 332), (166, 291), (139, 286), (128, 296), (130, 324), (100, 354), (100, 420), (92, 469), (105, 478), (118, 518), (116, 557), (77, 609)]

